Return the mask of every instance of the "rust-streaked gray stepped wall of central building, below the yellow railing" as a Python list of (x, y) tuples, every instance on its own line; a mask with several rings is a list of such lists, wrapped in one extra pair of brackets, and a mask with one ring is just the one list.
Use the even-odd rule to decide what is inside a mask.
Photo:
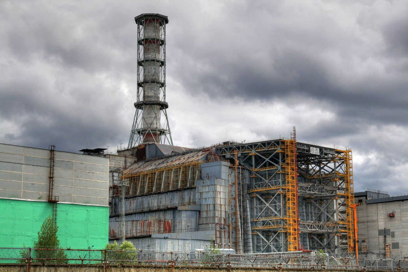
[[(202, 176), (195, 188), (126, 198), (125, 211), (129, 213), (125, 216), (126, 236), (143, 235), (146, 230), (152, 233), (151, 237), (126, 240), (139, 248), (169, 250), (205, 248), (211, 240), (221, 243), (221, 230), (217, 228), (220, 224), (229, 225), (231, 217), (229, 165), (224, 161), (203, 163)], [(118, 237), (121, 201), (115, 198), (112, 203), (116, 203), (113, 206), (117, 215), (110, 218), (109, 234)], [(171, 231), (160, 233), (165, 220), (170, 221)], [(224, 234), (223, 242), (227, 245), (230, 231)]]

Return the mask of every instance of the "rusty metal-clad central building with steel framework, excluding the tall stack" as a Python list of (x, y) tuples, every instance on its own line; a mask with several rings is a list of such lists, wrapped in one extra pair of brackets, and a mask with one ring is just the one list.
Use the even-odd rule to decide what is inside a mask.
[[(299, 174), (291, 204), (288, 141), (225, 142), (199, 149), (146, 143), (125, 150), (141, 158), (123, 173), (129, 180), (126, 240), (162, 250), (214, 243), (237, 252), (282, 252), (290, 250), (290, 232), (298, 230), (297, 250), (347, 252), (347, 151), (297, 142)], [(121, 191), (115, 181), (111, 192), (113, 241), (122, 235)], [(295, 230), (289, 229), (291, 211), (299, 218)]]

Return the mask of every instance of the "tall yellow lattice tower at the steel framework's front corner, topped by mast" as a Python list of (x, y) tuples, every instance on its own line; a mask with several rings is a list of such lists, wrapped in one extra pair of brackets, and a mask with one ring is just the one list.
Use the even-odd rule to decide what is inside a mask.
[(286, 162), (286, 216), (288, 232), (288, 251), (299, 250), (299, 222), (297, 210), (297, 163), (296, 131), (290, 140), (284, 140)]

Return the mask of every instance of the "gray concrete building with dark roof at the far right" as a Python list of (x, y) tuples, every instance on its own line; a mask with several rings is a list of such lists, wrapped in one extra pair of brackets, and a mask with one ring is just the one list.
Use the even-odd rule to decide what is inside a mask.
[(408, 256), (408, 196), (355, 193), (360, 253)]

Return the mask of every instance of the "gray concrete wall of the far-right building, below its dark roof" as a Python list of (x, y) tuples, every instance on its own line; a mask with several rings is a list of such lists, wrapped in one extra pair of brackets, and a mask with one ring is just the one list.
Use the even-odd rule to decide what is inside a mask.
[[(384, 253), (384, 244), (390, 244), (391, 256), (408, 256), (408, 201), (382, 203), (366, 203), (365, 197), (357, 206), (359, 251), (364, 251), (364, 243), (368, 252)], [(394, 211), (395, 217), (387, 215)], [(386, 229), (386, 237), (379, 231)], [(396, 244), (398, 243), (398, 244)], [(399, 248), (397, 248), (399, 247)]]

